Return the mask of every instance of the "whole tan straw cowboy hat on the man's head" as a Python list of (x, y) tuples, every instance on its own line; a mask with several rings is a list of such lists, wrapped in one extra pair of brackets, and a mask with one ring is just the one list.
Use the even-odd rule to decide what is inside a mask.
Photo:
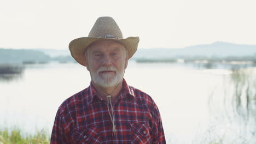
[(112, 17), (99, 17), (88, 37), (74, 39), (69, 43), (69, 50), (72, 57), (75, 61), (86, 67), (85, 50), (90, 44), (103, 39), (111, 39), (123, 44), (128, 51), (128, 59), (136, 52), (139, 43), (139, 37), (128, 37), (124, 39), (120, 28)]

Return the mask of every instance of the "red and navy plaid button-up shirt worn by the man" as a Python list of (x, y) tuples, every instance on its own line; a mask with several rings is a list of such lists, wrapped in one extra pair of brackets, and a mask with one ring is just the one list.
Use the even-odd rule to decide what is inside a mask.
[(148, 94), (123, 79), (113, 104), (114, 136), (107, 103), (96, 95), (91, 84), (61, 104), (51, 143), (166, 143), (158, 107)]

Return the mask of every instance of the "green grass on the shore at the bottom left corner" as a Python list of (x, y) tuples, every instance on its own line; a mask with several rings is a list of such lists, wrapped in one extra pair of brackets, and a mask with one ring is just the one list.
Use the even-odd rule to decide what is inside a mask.
[(14, 128), (11, 130), (8, 130), (7, 128), (3, 130), (0, 129), (0, 144), (10, 143), (50, 143), (50, 135), (48, 135), (44, 130), (38, 131), (34, 135), (23, 135), (19, 128)]

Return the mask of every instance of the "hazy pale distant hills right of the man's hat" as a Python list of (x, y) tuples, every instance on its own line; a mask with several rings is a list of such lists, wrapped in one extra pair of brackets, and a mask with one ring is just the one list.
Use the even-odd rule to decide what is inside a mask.
[(168, 58), (168, 57), (228, 57), (228, 56), (253, 56), (256, 55), (256, 45), (239, 45), (232, 43), (216, 42), (205, 45), (194, 45), (183, 49), (138, 49), (133, 59), (136, 58)]

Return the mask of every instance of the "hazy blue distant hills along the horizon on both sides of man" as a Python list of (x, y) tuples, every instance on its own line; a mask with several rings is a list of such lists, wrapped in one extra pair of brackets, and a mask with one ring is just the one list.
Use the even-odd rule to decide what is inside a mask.
[[(138, 49), (132, 59), (174, 59), (188, 57), (252, 57), (256, 56), (256, 45), (241, 45), (215, 42), (194, 45), (183, 49)], [(0, 63), (6, 62), (70, 62), (74, 61), (68, 49), (13, 50), (0, 49)]]

